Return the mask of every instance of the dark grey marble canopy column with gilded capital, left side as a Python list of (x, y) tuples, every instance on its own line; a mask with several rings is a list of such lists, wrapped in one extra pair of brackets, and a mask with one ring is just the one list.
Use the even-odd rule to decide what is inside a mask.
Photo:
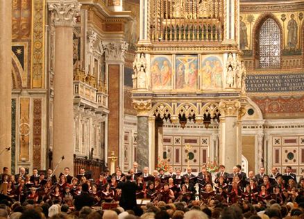
[(151, 110), (151, 100), (133, 100), (133, 106), (137, 110), (137, 157), (135, 161), (140, 167), (149, 167), (151, 151), (149, 147), (149, 112)]

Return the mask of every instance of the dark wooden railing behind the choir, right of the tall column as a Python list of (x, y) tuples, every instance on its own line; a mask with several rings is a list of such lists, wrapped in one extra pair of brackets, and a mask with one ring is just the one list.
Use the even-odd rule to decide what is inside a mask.
[(81, 168), (85, 168), (86, 172), (89, 172), (92, 176), (92, 179), (99, 179), (99, 175), (107, 167), (105, 162), (99, 159), (87, 159), (87, 157), (76, 156), (74, 154), (74, 172), (75, 175), (79, 173)]

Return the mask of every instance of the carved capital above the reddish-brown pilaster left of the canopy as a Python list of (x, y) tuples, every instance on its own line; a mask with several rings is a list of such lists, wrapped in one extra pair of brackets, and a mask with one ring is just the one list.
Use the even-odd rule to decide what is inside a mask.
[(101, 42), (105, 52), (105, 61), (121, 61), (128, 49), (128, 43), (124, 42)]

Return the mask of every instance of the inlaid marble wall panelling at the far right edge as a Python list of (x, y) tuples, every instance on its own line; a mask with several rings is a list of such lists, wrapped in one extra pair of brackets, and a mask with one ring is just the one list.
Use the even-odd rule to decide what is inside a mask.
[(301, 145), (302, 136), (272, 136), (273, 166), (286, 171), (286, 166), (292, 166), (292, 172), (301, 175), (304, 171), (304, 146)]

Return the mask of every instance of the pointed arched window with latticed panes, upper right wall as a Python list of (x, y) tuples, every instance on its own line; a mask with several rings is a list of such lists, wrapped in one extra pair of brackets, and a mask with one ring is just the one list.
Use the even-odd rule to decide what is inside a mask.
[(260, 67), (280, 67), (280, 28), (269, 18), (262, 24), (259, 35)]

